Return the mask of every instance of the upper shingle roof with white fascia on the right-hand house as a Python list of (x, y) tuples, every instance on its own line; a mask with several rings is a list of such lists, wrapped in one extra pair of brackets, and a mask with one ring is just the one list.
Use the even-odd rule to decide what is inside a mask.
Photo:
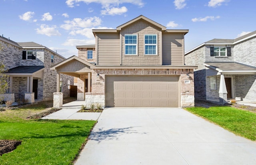
[(189, 54), (190, 52), (193, 52), (194, 50), (200, 48), (201, 46), (204, 46), (204, 45), (214, 45), (214, 44), (219, 44), (219, 45), (233, 45), (233, 44), (237, 44), (239, 42), (242, 42), (244, 40), (247, 40), (249, 38), (252, 38), (252, 37), (255, 37), (256, 36), (256, 30), (253, 31), (253, 32), (250, 32), (248, 34), (245, 34), (244, 36), (241, 36), (241, 37), (238, 37), (238, 38), (235, 38), (235, 39), (213, 39), (213, 40), (210, 40), (210, 41), (207, 41), (207, 42), (204, 42), (202, 44), (200, 44), (199, 46), (196, 46), (195, 48), (189, 50), (188, 52), (185, 53), (185, 56), (187, 54)]

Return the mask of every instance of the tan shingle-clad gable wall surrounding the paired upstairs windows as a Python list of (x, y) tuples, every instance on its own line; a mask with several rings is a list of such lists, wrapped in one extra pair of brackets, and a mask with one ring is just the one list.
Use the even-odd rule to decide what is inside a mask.
[[(153, 26), (146, 21), (137, 21), (132, 25), (129, 25), (122, 29), (120, 34), (122, 35), (122, 65), (162, 65), (160, 59), (160, 44), (162, 44), (160, 28)], [(125, 34), (138, 34), (138, 55), (126, 55), (124, 49), (124, 35)], [(145, 56), (144, 50), (144, 34), (157, 34), (158, 52), (157, 55)]]

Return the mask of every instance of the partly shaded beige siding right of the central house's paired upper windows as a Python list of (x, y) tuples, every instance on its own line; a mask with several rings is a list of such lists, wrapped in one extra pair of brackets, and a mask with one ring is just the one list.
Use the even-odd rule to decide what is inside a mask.
[(162, 36), (162, 64), (183, 64), (183, 34), (164, 34)]

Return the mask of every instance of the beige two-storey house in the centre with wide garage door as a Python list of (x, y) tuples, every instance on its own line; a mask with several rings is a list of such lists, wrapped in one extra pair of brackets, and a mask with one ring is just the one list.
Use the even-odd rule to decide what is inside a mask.
[(76, 46), (78, 57), (51, 67), (77, 77), (78, 100), (105, 107), (194, 106), (197, 67), (184, 65), (188, 30), (167, 30), (138, 16), (114, 30), (92, 32), (95, 45)]

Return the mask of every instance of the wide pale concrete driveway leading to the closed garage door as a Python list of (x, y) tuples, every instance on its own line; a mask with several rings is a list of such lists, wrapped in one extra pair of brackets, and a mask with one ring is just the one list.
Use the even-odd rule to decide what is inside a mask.
[(256, 143), (184, 109), (107, 108), (75, 165), (255, 165)]

